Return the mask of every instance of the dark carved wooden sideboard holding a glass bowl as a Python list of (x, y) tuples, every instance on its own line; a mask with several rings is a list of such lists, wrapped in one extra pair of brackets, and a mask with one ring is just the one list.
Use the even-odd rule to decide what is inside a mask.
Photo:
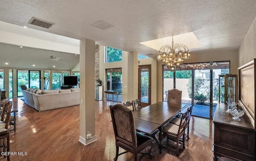
[(228, 105), (218, 104), (214, 114), (213, 160), (228, 157), (234, 160), (255, 161), (255, 129), (248, 116), (241, 121), (232, 119)]

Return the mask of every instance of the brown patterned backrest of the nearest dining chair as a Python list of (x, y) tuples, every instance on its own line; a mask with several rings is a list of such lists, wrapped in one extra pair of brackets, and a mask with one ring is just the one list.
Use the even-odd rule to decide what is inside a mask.
[(123, 104), (110, 105), (110, 114), (117, 141), (137, 147), (136, 130), (132, 110)]

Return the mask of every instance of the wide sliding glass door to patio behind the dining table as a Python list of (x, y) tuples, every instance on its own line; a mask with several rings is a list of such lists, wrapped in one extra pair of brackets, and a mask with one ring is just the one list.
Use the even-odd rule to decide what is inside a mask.
[[(230, 62), (212, 62), (212, 71), (209, 62), (183, 64), (181, 68), (176, 69), (175, 74), (165, 68), (164, 66), (163, 100), (167, 101), (166, 91), (176, 87), (176, 89), (182, 90), (182, 103), (194, 105), (192, 115), (204, 118), (212, 116), (213, 118), (219, 99), (218, 75), (230, 73)], [(210, 110), (211, 72), (212, 110)], [(210, 114), (211, 111), (212, 114)]]

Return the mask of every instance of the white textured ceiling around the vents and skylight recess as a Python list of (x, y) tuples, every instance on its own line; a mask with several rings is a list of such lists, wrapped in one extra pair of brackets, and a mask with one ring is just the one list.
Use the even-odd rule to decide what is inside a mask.
[[(238, 49), (255, 8), (255, 0), (3, 0), (0, 21), (142, 55), (157, 51), (140, 42), (193, 32), (202, 47), (191, 51), (200, 53)], [(55, 25), (30, 25), (32, 17)], [(98, 21), (114, 27), (91, 26)]]

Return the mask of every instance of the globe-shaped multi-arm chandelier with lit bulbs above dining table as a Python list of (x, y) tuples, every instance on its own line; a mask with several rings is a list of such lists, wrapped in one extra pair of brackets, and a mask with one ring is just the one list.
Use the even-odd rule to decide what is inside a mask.
[(163, 65), (167, 65), (171, 71), (179, 68), (184, 60), (191, 59), (190, 51), (186, 45), (176, 43), (174, 45), (172, 37), (172, 46), (164, 45), (159, 49), (157, 60), (162, 61)]

